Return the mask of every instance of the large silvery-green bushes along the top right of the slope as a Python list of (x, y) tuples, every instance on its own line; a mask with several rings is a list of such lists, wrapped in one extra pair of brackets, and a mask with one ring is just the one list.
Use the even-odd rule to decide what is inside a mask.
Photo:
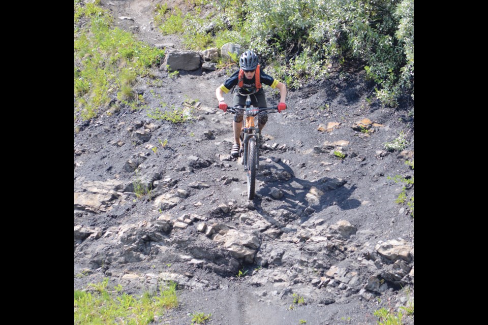
[(185, 17), (167, 8), (158, 15), (164, 17), (164, 26), (177, 26), (175, 32), (183, 34), (187, 47), (220, 47), (231, 41), (254, 49), (292, 88), (323, 78), (330, 63), (356, 61), (376, 83), (376, 96), (384, 105), (398, 106), (404, 94), (413, 98), (413, 0), (211, 3), (220, 10), (214, 16), (200, 18), (198, 5)]

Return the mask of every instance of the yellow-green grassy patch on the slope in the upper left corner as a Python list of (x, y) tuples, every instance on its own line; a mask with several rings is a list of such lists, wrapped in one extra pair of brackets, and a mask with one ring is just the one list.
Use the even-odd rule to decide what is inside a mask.
[[(75, 120), (90, 119), (109, 108), (112, 96), (139, 105), (132, 90), (136, 76), (159, 64), (164, 51), (112, 27), (113, 18), (98, 7), (75, 1)], [(79, 24), (81, 18), (88, 24)]]

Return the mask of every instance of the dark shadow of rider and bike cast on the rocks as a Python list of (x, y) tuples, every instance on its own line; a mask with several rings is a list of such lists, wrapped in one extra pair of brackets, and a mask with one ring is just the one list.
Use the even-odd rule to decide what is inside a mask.
[[(301, 223), (307, 221), (313, 213), (337, 205), (341, 210), (356, 209), (361, 205), (357, 199), (351, 199), (356, 186), (344, 186), (346, 180), (338, 178), (322, 177), (318, 180), (309, 181), (300, 179), (294, 175), (290, 166), (279, 161), (275, 165), (266, 165), (265, 170), (270, 173), (265, 175), (258, 174), (257, 179), (265, 181), (265, 185), (257, 190), (263, 198), (269, 197), (272, 187), (276, 187), (284, 192), (283, 202), (278, 209), (285, 209), (301, 217)], [(261, 201), (255, 201), (256, 210), (262, 211)]]

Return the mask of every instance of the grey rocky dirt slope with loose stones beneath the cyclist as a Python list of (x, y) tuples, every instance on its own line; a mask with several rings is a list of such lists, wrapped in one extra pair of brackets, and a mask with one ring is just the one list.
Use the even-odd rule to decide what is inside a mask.
[[(102, 5), (146, 42), (171, 41), (151, 30), (150, 1)], [(161, 324), (189, 324), (192, 312), (212, 313), (211, 324), (374, 324), (375, 310), (413, 302), (414, 222), (395, 204), (403, 184), (388, 179), (413, 177), (411, 108), (369, 104), (374, 85), (352, 71), (289, 91), (264, 128), (249, 201), (230, 159), (232, 115), (216, 109), (226, 71), (153, 75), (135, 86), (142, 109), (77, 125), (75, 289), (108, 277), (141, 294), (175, 281), (180, 306)], [(149, 117), (172, 105), (191, 119)], [(407, 150), (385, 151), (400, 131)]]

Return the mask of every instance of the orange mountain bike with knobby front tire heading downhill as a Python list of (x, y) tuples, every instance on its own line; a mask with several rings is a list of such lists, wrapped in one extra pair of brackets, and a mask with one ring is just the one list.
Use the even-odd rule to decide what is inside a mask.
[(259, 145), (261, 143), (261, 130), (258, 127), (258, 116), (266, 113), (278, 112), (278, 107), (251, 107), (251, 101), (246, 101), (245, 107), (229, 107), (227, 112), (243, 114), (242, 128), (240, 131), (239, 157), (242, 157), (242, 165), (247, 175), (248, 199), (254, 199), (256, 185), (256, 170), (259, 168)]

